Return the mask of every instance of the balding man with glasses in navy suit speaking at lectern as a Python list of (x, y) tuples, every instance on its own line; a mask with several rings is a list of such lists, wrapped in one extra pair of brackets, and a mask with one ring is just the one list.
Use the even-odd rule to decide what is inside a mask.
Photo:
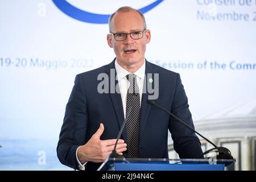
[(146, 102), (154, 99), (194, 127), (179, 74), (144, 57), (151, 32), (143, 14), (131, 7), (119, 8), (109, 18), (109, 31), (108, 44), (116, 57), (108, 65), (76, 76), (57, 144), (60, 162), (74, 169), (96, 170), (111, 154), (126, 117), (118, 154), (168, 158), (170, 130), (180, 158), (201, 156), (200, 140), (192, 130)]

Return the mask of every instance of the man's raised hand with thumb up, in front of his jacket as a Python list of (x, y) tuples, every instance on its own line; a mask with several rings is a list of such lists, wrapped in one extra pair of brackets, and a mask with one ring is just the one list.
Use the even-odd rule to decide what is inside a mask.
[[(103, 132), (104, 125), (101, 123), (100, 128), (92, 135), (92, 138), (77, 150), (77, 157), (82, 164), (88, 161), (94, 163), (104, 162), (114, 150), (117, 139), (101, 140), (100, 137)], [(122, 152), (127, 150), (126, 146), (125, 141), (119, 139), (116, 147), (117, 153), (122, 155)]]

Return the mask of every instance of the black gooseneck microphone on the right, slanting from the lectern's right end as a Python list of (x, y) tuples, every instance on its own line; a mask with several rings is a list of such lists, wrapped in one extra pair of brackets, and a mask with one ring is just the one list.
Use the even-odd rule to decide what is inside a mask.
[(201, 135), (200, 133), (198, 133), (196, 130), (194, 130), (191, 126), (189, 126), (187, 123), (185, 123), (184, 121), (182, 121), (180, 118), (176, 117), (176, 115), (172, 114), (170, 111), (164, 109), (163, 107), (155, 104), (155, 101), (153, 100), (147, 100), (147, 103), (150, 104), (150, 105), (154, 105), (155, 107), (158, 107), (159, 109), (162, 109), (164, 111), (166, 111), (168, 114), (170, 114), (172, 117), (174, 117), (175, 119), (177, 119), (178, 121), (180, 121), (181, 123), (183, 123), (183, 125), (187, 126), (189, 129), (191, 129), (193, 132), (195, 132), (196, 134), (198, 134), (200, 137), (202, 137), (203, 139), (207, 140), (207, 142), (209, 142), (210, 144), (212, 144), (214, 146), (214, 148), (208, 150), (208, 151), (205, 151), (203, 153), (202, 156), (200, 157), (203, 157), (204, 155), (206, 154), (209, 154), (209, 152), (218, 152), (218, 155), (216, 156), (217, 159), (233, 159), (233, 156), (231, 155), (231, 152), (228, 150), (228, 148), (225, 148), (225, 147), (217, 147), (216, 144), (210, 142), (209, 139), (205, 138), (203, 135)]

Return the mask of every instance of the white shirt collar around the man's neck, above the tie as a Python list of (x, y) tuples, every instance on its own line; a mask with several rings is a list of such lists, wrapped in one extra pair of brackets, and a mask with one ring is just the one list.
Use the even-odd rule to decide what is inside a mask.
[[(141, 66), (141, 68), (139, 68), (136, 72), (134, 72), (134, 75), (136, 75), (137, 77), (141, 78), (142, 80), (144, 80), (144, 75), (145, 75), (145, 62), (144, 61), (143, 65)], [(115, 60), (115, 71), (117, 72), (117, 80), (121, 80), (123, 77), (125, 77), (126, 75), (129, 75), (130, 72), (128, 72), (126, 69), (123, 69), (118, 63), (117, 60)]]

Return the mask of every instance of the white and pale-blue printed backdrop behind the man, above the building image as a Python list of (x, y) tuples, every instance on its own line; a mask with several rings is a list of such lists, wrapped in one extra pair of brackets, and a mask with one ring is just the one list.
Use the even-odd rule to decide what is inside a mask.
[(212, 2), (0, 0), (0, 169), (69, 169), (56, 157), (65, 105), (78, 73), (114, 59), (106, 20), (121, 6), (143, 11), (146, 59), (180, 73), (195, 123), (253, 100), (256, 1)]

